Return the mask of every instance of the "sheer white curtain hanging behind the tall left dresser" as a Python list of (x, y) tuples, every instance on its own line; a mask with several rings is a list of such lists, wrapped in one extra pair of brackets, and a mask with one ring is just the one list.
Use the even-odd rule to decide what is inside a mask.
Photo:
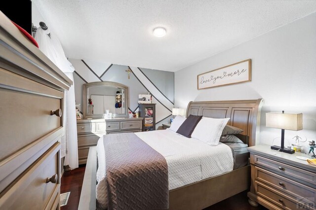
[[(49, 29), (37, 29), (35, 39), (40, 46), (40, 50), (73, 82), (74, 67), (67, 60), (64, 50), (57, 36), (50, 34)], [(71, 170), (78, 168), (78, 142), (77, 142), (77, 121), (74, 85), (64, 96), (64, 117), (63, 125), (65, 133), (61, 138), (61, 157), (65, 157), (64, 165)]]

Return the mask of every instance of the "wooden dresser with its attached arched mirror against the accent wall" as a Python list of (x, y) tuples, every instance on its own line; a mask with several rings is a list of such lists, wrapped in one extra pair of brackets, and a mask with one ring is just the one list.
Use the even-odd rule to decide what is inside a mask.
[[(142, 131), (142, 117), (128, 118), (128, 98), (128, 87), (117, 82), (82, 86), (83, 119), (77, 120), (79, 165), (86, 163), (89, 147), (96, 146), (103, 135)], [(107, 110), (112, 119), (104, 119)]]

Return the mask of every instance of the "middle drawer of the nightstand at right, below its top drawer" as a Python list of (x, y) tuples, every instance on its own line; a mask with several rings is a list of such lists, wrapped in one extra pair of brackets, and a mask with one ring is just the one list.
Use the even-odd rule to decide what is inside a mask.
[[(316, 190), (280, 175), (273, 174), (264, 169), (255, 167), (256, 180), (268, 184), (280, 192), (292, 196), (294, 199), (301, 197), (316, 201)], [(309, 201), (307, 201), (309, 202)]]

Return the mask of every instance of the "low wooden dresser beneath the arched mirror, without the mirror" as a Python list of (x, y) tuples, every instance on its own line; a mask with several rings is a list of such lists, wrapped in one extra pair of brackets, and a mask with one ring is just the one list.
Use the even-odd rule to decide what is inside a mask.
[(77, 120), (79, 164), (85, 164), (90, 146), (106, 134), (141, 132), (143, 118), (82, 119)]

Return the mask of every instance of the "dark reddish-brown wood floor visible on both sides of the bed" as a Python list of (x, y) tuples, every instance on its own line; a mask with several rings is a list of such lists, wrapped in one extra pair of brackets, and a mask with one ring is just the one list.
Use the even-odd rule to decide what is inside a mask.
[[(71, 192), (66, 206), (61, 207), (61, 210), (77, 210), (81, 193), (85, 166), (81, 166), (70, 172), (65, 172), (61, 178), (61, 193)], [(204, 210), (267, 210), (259, 205), (252, 207), (248, 204), (247, 192), (241, 192), (233, 197), (221, 201)]]

